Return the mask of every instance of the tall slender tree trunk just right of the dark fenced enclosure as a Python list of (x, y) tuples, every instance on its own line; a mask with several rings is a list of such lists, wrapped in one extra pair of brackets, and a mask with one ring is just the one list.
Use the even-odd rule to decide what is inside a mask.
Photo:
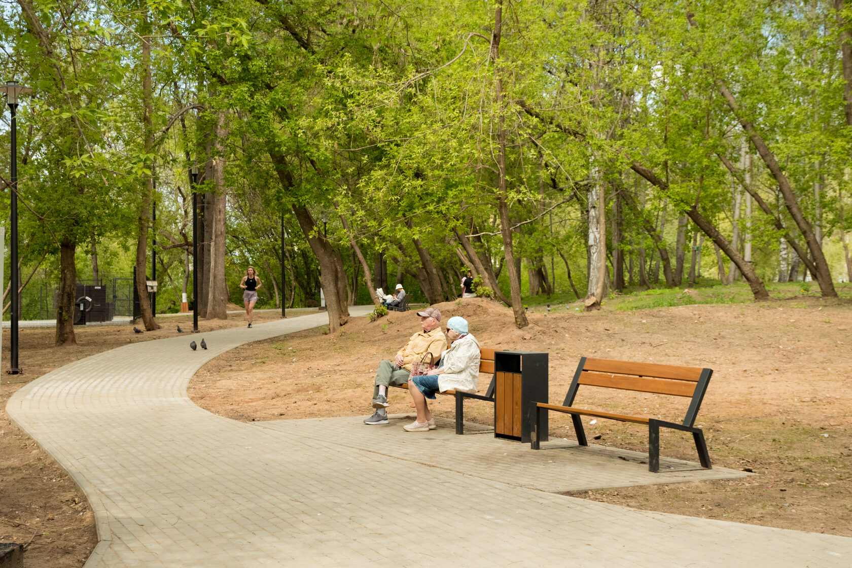
[[(144, 147), (147, 156), (153, 153), (154, 131), (153, 131), (153, 89), (151, 85), (151, 25), (148, 22), (147, 9), (142, 14), (140, 26), (140, 37), (142, 40), (142, 126), (144, 136)], [(149, 171), (153, 171), (151, 162), (146, 158)], [(139, 295), (139, 307), (142, 313), (142, 322), (147, 331), (158, 330), (159, 324), (154, 321), (151, 313), (151, 301), (148, 300), (148, 285), (145, 278), (147, 251), (148, 251), (148, 226), (151, 223), (151, 195), (153, 193), (153, 179), (151, 175), (145, 176), (141, 187), (141, 200), (139, 204), (139, 222), (136, 232), (136, 292)], [(73, 322), (72, 322), (73, 324)]]

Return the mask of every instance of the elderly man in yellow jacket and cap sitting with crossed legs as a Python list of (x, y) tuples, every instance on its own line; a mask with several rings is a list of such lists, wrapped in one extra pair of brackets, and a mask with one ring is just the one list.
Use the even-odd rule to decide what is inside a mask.
[(393, 361), (384, 360), (378, 364), (372, 400), (376, 412), (364, 421), (365, 424), (387, 424), (389, 385), (405, 385), (412, 374), (412, 363), (419, 362), (426, 353), (432, 353), (437, 362), (440, 353), (446, 349), (446, 337), (440, 332), (440, 310), (427, 307), (417, 312), (417, 315), (420, 316), (421, 331), (414, 334), (406, 345), (396, 352)]

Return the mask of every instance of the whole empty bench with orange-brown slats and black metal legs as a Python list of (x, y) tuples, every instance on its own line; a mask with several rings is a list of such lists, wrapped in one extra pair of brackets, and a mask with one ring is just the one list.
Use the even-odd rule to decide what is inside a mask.
[[(583, 429), (583, 421), (580, 416), (595, 416), (597, 418), (609, 418), (620, 422), (635, 422), (636, 424), (648, 424), (648, 470), (659, 472), (659, 428), (667, 427), (674, 430), (692, 433), (695, 440), (695, 449), (698, 450), (701, 467), (711, 468), (710, 455), (707, 453), (707, 445), (704, 433), (695, 427), (695, 417), (704, 399), (707, 384), (713, 375), (711, 369), (699, 367), (681, 367), (670, 364), (633, 363), (631, 361), (615, 361), (612, 359), (586, 359), (580, 358), (577, 370), (574, 373), (571, 387), (565, 395), (565, 401), (560, 404), (536, 403), (533, 410), (533, 450), (538, 450), (538, 427), (544, 427), (547, 420), (548, 410), (566, 412), (571, 415), (574, 431), (577, 434), (579, 445), (589, 445), (586, 441)], [(601, 410), (590, 410), (574, 406), (577, 390), (580, 385), (594, 387), (618, 388), (622, 390), (637, 391), (642, 393), (668, 394), (671, 396), (690, 398), (689, 407), (683, 422), (666, 422), (656, 418), (644, 416), (626, 416), (603, 412)]]

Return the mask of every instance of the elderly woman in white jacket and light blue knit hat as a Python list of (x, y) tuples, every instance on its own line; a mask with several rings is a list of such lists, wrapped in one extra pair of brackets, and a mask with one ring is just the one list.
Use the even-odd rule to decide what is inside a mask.
[(448, 390), (475, 393), (479, 382), (479, 341), (468, 333), (464, 318), (450, 318), (446, 322), (446, 339), (451, 345), (440, 354), (439, 368), (433, 375), (412, 376), (408, 392), (412, 393), (417, 408), (417, 420), (403, 426), (407, 432), (426, 432), (435, 429), (435, 419), (429, 412), (426, 399), (435, 399), (435, 393)]

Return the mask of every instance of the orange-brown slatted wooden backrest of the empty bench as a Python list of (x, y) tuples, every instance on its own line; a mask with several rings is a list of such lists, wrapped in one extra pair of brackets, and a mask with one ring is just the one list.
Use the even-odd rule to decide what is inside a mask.
[(692, 427), (712, 375), (712, 369), (700, 367), (581, 357), (562, 405), (573, 404), (580, 385), (690, 397), (683, 425)]

